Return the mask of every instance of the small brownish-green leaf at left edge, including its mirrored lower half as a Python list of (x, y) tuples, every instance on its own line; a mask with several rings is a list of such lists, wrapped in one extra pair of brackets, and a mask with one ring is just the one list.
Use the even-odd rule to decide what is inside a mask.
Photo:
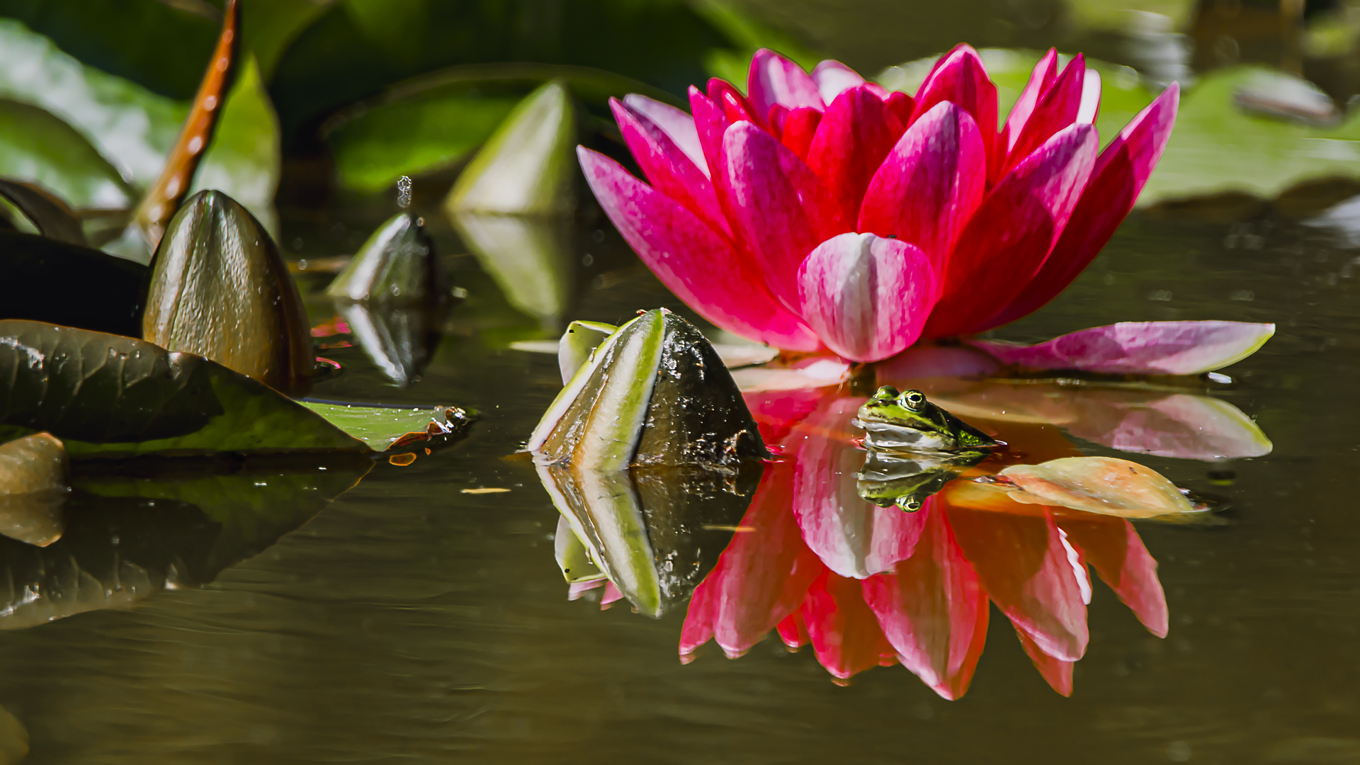
[(0, 535), (38, 547), (61, 536), (67, 449), (49, 433), (0, 445)]

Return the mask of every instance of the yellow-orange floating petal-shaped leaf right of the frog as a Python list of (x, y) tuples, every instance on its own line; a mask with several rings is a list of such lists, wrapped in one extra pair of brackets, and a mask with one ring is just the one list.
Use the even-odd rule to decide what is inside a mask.
[(1193, 513), (1185, 494), (1160, 472), (1114, 457), (1062, 457), (1036, 466), (1010, 466), (1000, 472), (1025, 505), (1059, 505), (1119, 517)]

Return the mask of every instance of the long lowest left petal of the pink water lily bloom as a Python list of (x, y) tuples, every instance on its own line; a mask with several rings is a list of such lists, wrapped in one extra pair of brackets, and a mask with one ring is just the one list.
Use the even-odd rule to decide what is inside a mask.
[(715, 325), (781, 348), (816, 350), (808, 327), (774, 299), (760, 275), (694, 212), (608, 157), (577, 148), (609, 219), (672, 293)]

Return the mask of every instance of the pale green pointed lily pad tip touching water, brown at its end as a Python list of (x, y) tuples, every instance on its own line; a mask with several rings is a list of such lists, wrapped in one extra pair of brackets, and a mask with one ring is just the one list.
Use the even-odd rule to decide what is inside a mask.
[[(458, 407), (407, 407), (302, 400), (302, 406), (375, 452), (428, 448), (462, 440), (473, 417)], [(432, 427), (431, 427), (432, 426)]]

